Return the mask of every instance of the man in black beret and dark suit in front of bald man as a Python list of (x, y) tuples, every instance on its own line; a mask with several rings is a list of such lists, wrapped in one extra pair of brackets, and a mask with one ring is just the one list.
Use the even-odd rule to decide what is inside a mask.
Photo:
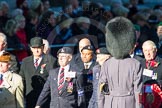
[(92, 96), (92, 91), (93, 91), (92, 68), (96, 65), (96, 60), (94, 60), (95, 54), (92, 45), (86, 45), (80, 50), (81, 50), (81, 54), (80, 54), (81, 60), (76, 62), (75, 65), (83, 73), (86, 106), (88, 107), (89, 100)]

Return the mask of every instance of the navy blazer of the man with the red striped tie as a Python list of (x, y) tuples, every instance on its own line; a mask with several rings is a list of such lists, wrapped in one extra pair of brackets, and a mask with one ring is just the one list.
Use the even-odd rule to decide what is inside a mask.
[[(69, 71), (76, 72), (74, 67), (70, 66)], [(76, 77), (70, 82), (65, 81), (62, 93), (58, 93), (58, 73), (59, 68), (50, 70), (49, 77), (44, 85), (44, 88), (38, 98), (37, 106), (42, 106), (47, 96), (51, 95), (50, 108), (84, 108), (84, 94), (78, 96), (78, 91), (83, 90), (83, 77), (81, 72), (76, 72)], [(73, 83), (72, 92), (68, 92), (69, 83)]]

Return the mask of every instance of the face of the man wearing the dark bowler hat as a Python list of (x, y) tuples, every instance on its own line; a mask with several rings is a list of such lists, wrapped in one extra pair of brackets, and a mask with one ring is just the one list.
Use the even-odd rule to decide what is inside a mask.
[(44, 47), (30, 47), (34, 57), (40, 57), (43, 54)]

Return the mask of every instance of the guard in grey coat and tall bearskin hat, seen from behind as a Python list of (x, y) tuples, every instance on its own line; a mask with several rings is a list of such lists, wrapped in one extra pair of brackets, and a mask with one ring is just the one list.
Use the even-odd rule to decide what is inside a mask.
[[(129, 56), (135, 43), (134, 26), (127, 18), (115, 17), (106, 24), (106, 47), (112, 57), (101, 67), (99, 87), (108, 83), (109, 94), (105, 100), (98, 98), (99, 103), (104, 101), (99, 108), (142, 108), (143, 68)], [(102, 89), (98, 96), (101, 94)]]

